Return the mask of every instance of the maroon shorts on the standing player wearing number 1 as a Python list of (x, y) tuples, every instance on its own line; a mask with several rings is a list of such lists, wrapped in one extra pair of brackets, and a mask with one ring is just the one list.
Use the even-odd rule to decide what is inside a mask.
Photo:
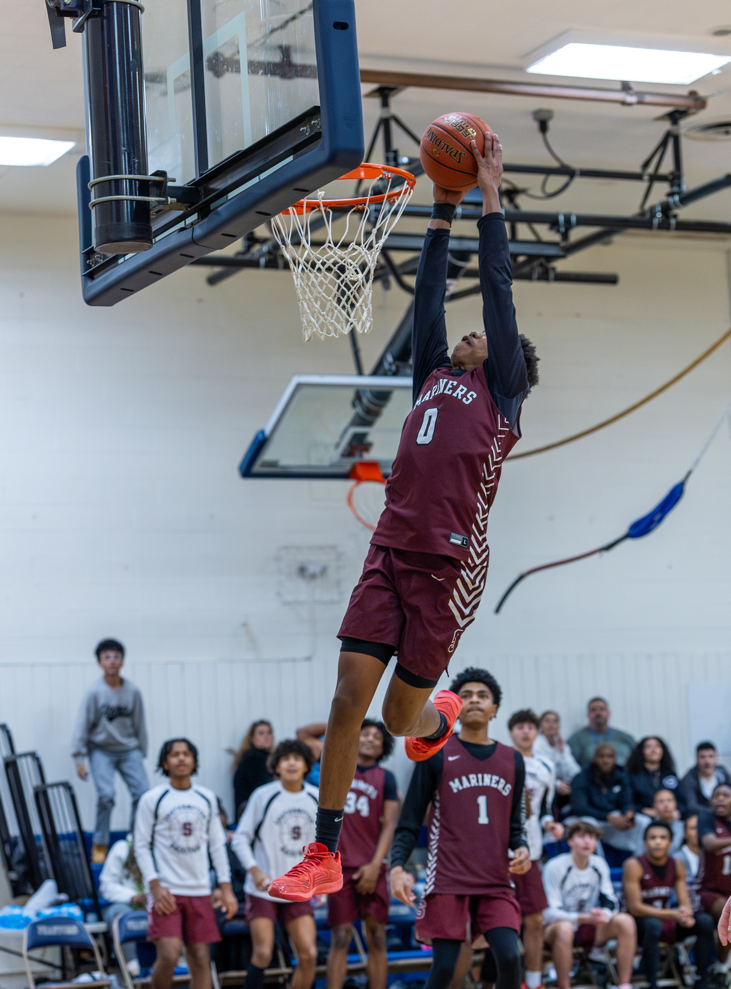
[(434, 938), (473, 942), (497, 927), (520, 934), (520, 908), (509, 889), (496, 889), (489, 896), (429, 893), (418, 905), (414, 934), (424, 944)]

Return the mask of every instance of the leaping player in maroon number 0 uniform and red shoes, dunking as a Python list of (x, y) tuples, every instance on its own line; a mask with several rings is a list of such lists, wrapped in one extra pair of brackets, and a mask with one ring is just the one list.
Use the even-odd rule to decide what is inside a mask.
[[(492, 138), (492, 140), (491, 140)], [(413, 408), (386, 486), (386, 508), (338, 632), (337, 686), (320, 764), (316, 842), (304, 861), (272, 883), (290, 900), (340, 888), (335, 854), (358, 756), (360, 725), (391, 657), (399, 653), (383, 705), (393, 735), (411, 736), (415, 761), (452, 733), (461, 703), (447, 690), (428, 698), (459, 637), (474, 620), (488, 568), (486, 527), (503, 459), (520, 437), (520, 405), (537, 384), (535, 349), (518, 335), (510, 255), (498, 190), (497, 135), (479, 154), (483, 194), (480, 281), (485, 332), (447, 350), (444, 320), (449, 229), (464, 193), (434, 185), (413, 308)]]

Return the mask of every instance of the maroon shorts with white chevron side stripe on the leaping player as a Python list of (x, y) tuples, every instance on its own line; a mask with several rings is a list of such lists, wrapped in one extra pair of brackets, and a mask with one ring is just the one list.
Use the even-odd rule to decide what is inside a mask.
[(434, 686), (480, 603), (487, 571), (473, 584), (466, 567), (454, 557), (371, 546), (337, 633), (341, 651), (384, 663), (398, 652), (397, 676)]

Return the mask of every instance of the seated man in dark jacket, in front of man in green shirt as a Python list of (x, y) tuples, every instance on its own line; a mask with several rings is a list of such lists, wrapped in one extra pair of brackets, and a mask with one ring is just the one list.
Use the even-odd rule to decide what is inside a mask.
[(598, 829), (607, 859), (620, 864), (623, 853), (636, 850), (637, 831), (632, 789), (613, 747), (606, 742), (596, 746), (592, 763), (574, 776), (571, 787), (572, 814)]

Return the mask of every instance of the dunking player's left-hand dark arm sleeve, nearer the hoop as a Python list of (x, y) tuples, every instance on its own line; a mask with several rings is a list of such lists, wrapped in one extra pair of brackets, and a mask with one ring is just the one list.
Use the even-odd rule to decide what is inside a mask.
[(435, 368), (450, 367), (444, 295), (449, 230), (427, 230), (416, 271), (411, 327), (413, 401)]

